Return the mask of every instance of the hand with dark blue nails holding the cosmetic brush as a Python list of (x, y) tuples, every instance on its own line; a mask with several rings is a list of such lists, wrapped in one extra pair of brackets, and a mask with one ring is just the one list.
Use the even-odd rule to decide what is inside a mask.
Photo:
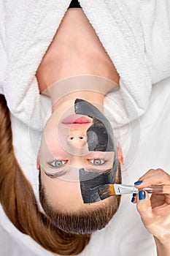
[(149, 170), (135, 182), (139, 195), (132, 198), (147, 230), (154, 236), (158, 255), (170, 255), (170, 194), (152, 194), (142, 190), (150, 185), (170, 185), (170, 175), (161, 169)]

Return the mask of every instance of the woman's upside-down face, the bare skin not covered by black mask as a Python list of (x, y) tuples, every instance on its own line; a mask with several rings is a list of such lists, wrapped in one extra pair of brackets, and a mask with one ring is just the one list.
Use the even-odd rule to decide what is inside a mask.
[[(90, 114), (90, 113), (89, 113)], [(102, 203), (84, 204), (80, 188), (80, 169), (89, 173), (109, 173), (115, 151), (89, 150), (87, 131), (93, 118), (75, 113), (74, 101), (63, 102), (47, 121), (39, 151), (41, 182), (53, 208), (78, 212)]]

